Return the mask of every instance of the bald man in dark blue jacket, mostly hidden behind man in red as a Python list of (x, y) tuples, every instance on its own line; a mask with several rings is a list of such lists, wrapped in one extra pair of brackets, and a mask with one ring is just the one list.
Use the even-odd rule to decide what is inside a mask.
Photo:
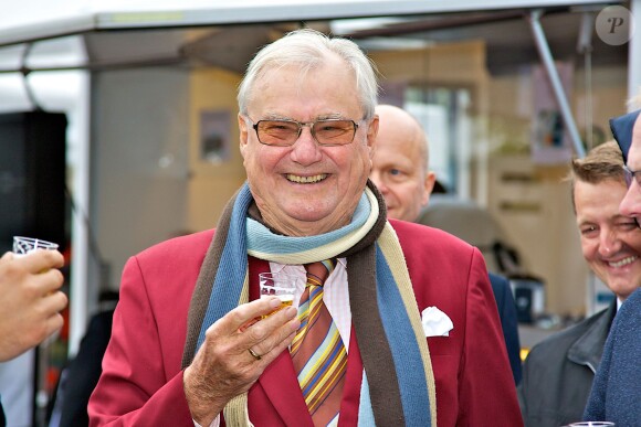
[[(391, 105), (376, 107), (379, 116), (372, 168), (369, 178), (385, 198), (390, 218), (417, 222), (428, 205), (437, 177), (430, 171), (429, 143), (419, 121), (406, 110)], [(498, 308), (503, 338), (515, 384), (521, 382), (521, 345), (516, 305), (509, 282), (490, 274)]]

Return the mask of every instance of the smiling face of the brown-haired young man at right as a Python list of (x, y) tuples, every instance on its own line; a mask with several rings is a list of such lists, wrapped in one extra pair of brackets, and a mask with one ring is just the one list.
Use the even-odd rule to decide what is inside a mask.
[(595, 274), (620, 299), (641, 286), (641, 229), (619, 213), (626, 184), (617, 180), (575, 183), (581, 249)]

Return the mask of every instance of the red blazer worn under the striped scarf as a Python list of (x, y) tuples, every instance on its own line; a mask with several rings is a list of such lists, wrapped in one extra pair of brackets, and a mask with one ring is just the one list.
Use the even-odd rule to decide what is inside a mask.
[[(450, 234), (390, 221), (422, 311), (435, 306), (454, 329), (428, 338), (439, 426), (522, 426), (501, 322), (481, 253)], [(180, 362), (191, 293), (213, 231), (178, 237), (132, 257), (103, 374), (91, 397), (91, 425), (186, 426), (191, 415)], [(250, 268), (267, 269), (264, 261)], [(349, 268), (349, 266), (348, 266)], [(255, 274), (250, 277), (256, 276)], [(254, 282), (250, 298), (256, 297)], [(356, 425), (362, 365), (351, 334), (341, 425)], [(256, 426), (311, 426), (291, 357), (283, 352), (249, 392)]]

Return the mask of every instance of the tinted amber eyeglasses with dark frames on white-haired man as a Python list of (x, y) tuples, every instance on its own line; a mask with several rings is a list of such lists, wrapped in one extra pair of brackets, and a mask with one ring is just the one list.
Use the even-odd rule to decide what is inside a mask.
[(354, 120), (323, 119), (301, 122), (296, 120), (259, 120), (255, 124), (245, 117), (256, 131), (259, 141), (265, 146), (293, 146), (303, 131), (309, 127), (312, 137), (320, 146), (346, 146), (354, 141), (358, 124)]

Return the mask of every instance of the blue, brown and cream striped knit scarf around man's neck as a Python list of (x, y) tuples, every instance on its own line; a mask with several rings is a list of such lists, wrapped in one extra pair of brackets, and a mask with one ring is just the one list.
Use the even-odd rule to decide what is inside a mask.
[[(346, 257), (351, 321), (364, 365), (358, 425), (435, 426), (427, 340), (400, 243), (376, 186), (368, 181), (350, 224), (311, 237), (272, 233), (250, 217), (252, 204), (245, 183), (219, 222), (191, 298), (182, 367), (193, 360), (206, 330), (248, 302), (248, 255), (295, 265)], [(246, 393), (230, 401), (223, 415), (228, 425), (251, 426)]]

